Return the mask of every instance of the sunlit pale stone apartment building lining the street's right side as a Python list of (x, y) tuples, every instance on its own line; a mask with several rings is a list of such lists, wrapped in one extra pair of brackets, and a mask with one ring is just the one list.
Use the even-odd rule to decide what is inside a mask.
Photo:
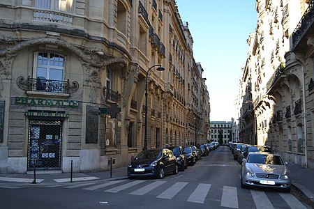
[(255, 144), (268, 144), (288, 162), (313, 169), (314, 3), (256, 1), (256, 10), (246, 62), (251, 84), (244, 87), (251, 91), (242, 88), (246, 93), (239, 95), (240, 119), (251, 101)]

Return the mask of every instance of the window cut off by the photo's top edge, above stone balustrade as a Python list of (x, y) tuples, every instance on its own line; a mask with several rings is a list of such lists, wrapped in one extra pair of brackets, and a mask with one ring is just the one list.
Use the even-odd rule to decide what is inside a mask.
[(35, 0), (35, 7), (71, 13), (73, 0)]

